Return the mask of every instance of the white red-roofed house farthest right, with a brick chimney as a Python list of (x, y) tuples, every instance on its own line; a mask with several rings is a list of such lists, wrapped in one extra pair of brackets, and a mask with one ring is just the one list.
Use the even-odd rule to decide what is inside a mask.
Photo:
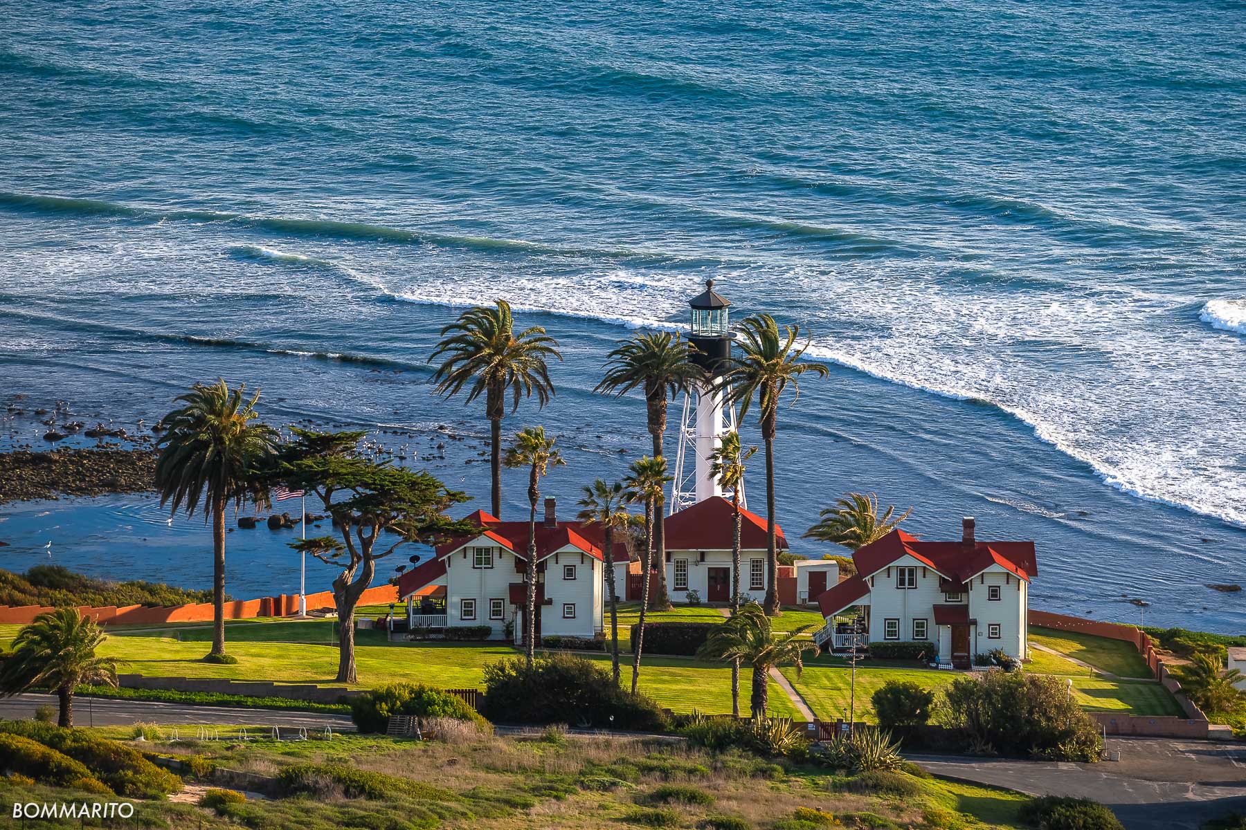
[(897, 529), (855, 551), (852, 561), (857, 574), (817, 597), (826, 618), (819, 645), (849, 646), (844, 618), (856, 609), (870, 642), (928, 642), (930, 657), (943, 664), (968, 668), (974, 655), (996, 648), (1028, 656), (1034, 543), (979, 541), (967, 516), (961, 541), (922, 541)]

